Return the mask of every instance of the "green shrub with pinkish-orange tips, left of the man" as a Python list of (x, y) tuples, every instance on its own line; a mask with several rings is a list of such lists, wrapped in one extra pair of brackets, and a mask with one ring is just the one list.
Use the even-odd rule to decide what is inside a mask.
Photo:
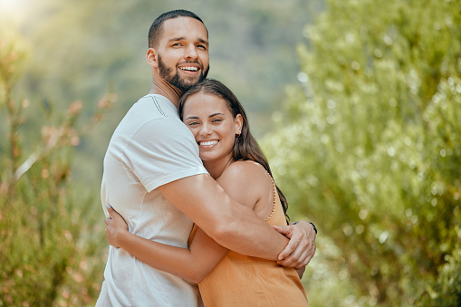
[(94, 197), (72, 184), (72, 154), (114, 97), (103, 98), (81, 129), (81, 101), (62, 113), (49, 111), (39, 138), (27, 139), (30, 102), (11, 95), (24, 49), (14, 34), (0, 37), (0, 113), (8, 124), (0, 154), (0, 305), (91, 304), (101, 287), (104, 238)]

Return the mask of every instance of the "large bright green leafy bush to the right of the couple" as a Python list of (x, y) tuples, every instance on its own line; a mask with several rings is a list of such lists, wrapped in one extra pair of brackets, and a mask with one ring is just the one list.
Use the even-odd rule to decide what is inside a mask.
[(302, 84), (265, 148), (292, 212), (319, 225), (312, 305), (336, 305), (341, 283), (354, 289), (343, 305), (445, 293), (435, 305), (459, 304), (459, 273), (446, 273), (461, 271), (459, 12), (449, 0), (330, 0), (306, 26)]

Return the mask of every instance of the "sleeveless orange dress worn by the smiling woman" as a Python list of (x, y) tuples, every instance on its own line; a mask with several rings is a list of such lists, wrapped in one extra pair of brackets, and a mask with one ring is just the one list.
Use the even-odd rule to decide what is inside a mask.
[[(265, 220), (270, 225), (286, 225), (283, 207), (274, 187), (274, 207)], [(197, 232), (194, 226), (189, 245)], [(308, 306), (298, 273), (274, 261), (229, 251), (201, 283), (206, 307), (226, 306)]]

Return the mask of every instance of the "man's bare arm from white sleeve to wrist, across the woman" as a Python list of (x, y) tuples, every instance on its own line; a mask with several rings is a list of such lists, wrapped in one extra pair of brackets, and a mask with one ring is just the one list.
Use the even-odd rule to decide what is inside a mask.
[(239, 254), (279, 260), (288, 244), (285, 236), (252, 209), (228, 197), (207, 174), (185, 177), (158, 190), (218, 244)]

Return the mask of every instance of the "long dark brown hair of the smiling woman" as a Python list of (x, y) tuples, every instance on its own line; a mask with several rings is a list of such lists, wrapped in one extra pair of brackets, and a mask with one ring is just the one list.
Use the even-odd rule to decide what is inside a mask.
[[(187, 98), (194, 94), (197, 94), (198, 92), (203, 92), (224, 99), (227, 102), (227, 108), (232, 112), (234, 118), (238, 114), (242, 116), (242, 132), (239, 137), (235, 136), (234, 147), (232, 149), (232, 155), (234, 160), (253, 160), (261, 164), (272, 177), (272, 171), (269, 167), (269, 163), (267, 162), (267, 158), (265, 158), (263, 150), (259, 148), (258, 142), (250, 132), (250, 127), (248, 119), (246, 118), (244, 107), (242, 106), (240, 101), (237, 100), (234, 93), (231, 90), (229, 90), (223, 83), (213, 79), (206, 79), (203, 82), (197, 83), (196, 85), (192, 86), (188, 91), (186, 91), (179, 100), (178, 112), (180, 119), (183, 119), (183, 109), (184, 104), (187, 101)], [(288, 220), (289, 216), (286, 214), (288, 202), (286, 201), (286, 198), (284, 197), (280, 188), (277, 187), (277, 185), (275, 185), (275, 187), (280, 197), (280, 202), (283, 206), (283, 213), (285, 214)]]

